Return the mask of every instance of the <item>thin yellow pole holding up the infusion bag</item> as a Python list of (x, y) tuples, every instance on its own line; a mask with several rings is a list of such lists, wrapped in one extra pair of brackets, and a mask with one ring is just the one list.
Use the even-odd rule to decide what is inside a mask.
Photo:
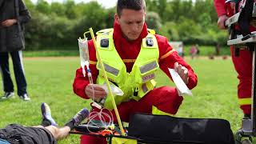
[(98, 62), (100, 64), (100, 66), (102, 67), (102, 71), (103, 71), (104, 78), (105, 78), (105, 81), (106, 81), (107, 89), (110, 92), (110, 98), (111, 98), (112, 105), (114, 107), (114, 113), (115, 113), (116, 117), (118, 118), (118, 125), (120, 127), (121, 134), (122, 134), (122, 136), (124, 136), (125, 132), (124, 132), (123, 127), (122, 127), (122, 122), (121, 122), (121, 118), (120, 118), (119, 113), (118, 113), (118, 108), (117, 108), (117, 106), (116, 106), (116, 104), (114, 102), (114, 96), (113, 96), (112, 90), (110, 88), (110, 82), (107, 79), (105, 67), (103, 66), (103, 63), (102, 63), (102, 58), (101, 58), (101, 56), (100, 56), (100, 54), (98, 52), (97, 42), (96, 42), (96, 39), (94, 37), (94, 30), (92, 28), (90, 28), (89, 30), (90, 30), (91, 38), (93, 38), (93, 42), (94, 42), (94, 47), (95, 47), (96, 53), (98, 55)]

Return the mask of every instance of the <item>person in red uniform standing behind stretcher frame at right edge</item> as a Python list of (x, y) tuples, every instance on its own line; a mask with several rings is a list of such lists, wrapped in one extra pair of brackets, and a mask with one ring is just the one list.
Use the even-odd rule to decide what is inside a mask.
[[(226, 29), (224, 22), (234, 14), (235, 3), (225, 3), (225, 0), (214, 0), (215, 10), (218, 14), (218, 27)], [(238, 28), (238, 26), (236, 26)], [(250, 31), (254, 30), (250, 26)], [(250, 118), (251, 113), (251, 78), (252, 78), (252, 53), (246, 48), (241, 48), (239, 55), (234, 55), (234, 46), (230, 46), (234, 69), (238, 73), (238, 103), (245, 118)]]

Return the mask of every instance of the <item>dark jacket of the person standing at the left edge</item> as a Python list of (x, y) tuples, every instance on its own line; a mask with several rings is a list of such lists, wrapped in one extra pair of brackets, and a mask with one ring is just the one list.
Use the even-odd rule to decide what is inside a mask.
[[(30, 20), (30, 12), (26, 9), (26, 6), (22, 0), (18, 0), (18, 11), (19, 16), (15, 12), (15, 0), (0, 0), (0, 52), (8, 52), (13, 50), (22, 50), (25, 48), (24, 46), (20, 46), (16, 44), (17, 37), (19, 34), (22, 35), (22, 42), (25, 43), (24, 33), (19, 33), (19, 31), (24, 31), (23, 24), (29, 22)], [(6, 19), (17, 19), (17, 23), (13, 26), (4, 27), (1, 26), (1, 23)], [(18, 25), (20, 24), (21, 30), (18, 29)]]

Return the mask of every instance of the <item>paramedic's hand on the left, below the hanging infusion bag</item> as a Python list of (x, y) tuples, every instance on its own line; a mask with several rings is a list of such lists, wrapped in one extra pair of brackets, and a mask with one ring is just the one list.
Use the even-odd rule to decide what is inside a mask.
[(105, 98), (107, 95), (106, 91), (101, 86), (97, 86), (95, 84), (89, 84), (86, 86), (85, 92), (89, 98), (92, 98), (96, 101)]

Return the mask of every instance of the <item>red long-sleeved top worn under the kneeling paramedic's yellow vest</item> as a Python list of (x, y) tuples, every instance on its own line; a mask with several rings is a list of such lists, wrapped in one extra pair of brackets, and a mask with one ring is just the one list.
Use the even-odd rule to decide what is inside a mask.
[[(138, 53), (141, 49), (142, 38), (145, 38), (147, 32), (146, 24), (143, 27), (142, 34), (139, 38), (129, 42), (122, 36), (121, 27), (114, 22), (114, 46), (118, 51), (118, 54), (122, 58), (122, 61), (126, 65), (127, 72), (132, 70), (134, 62), (138, 57)], [(182, 66), (185, 66), (188, 69), (189, 82), (187, 86), (192, 89), (197, 85), (198, 78), (191, 67), (178, 56), (178, 53), (169, 45), (167, 38), (161, 35), (155, 34), (155, 37), (158, 41), (159, 48), (159, 59), (158, 63), (163, 72), (165, 72), (169, 78), (171, 78), (168, 68), (174, 68), (174, 62), (178, 62)], [(89, 53), (90, 53), (90, 70), (94, 79), (94, 83), (98, 77), (98, 70), (96, 69), (96, 51), (94, 49), (94, 43), (92, 40), (88, 42)], [(86, 77), (83, 77), (82, 68), (79, 68), (76, 71), (76, 77), (74, 78), (73, 90), (75, 94), (78, 94), (81, 98), (88, 98), (85, 94), (85, 88), (89, 84), (89, 80)]]

